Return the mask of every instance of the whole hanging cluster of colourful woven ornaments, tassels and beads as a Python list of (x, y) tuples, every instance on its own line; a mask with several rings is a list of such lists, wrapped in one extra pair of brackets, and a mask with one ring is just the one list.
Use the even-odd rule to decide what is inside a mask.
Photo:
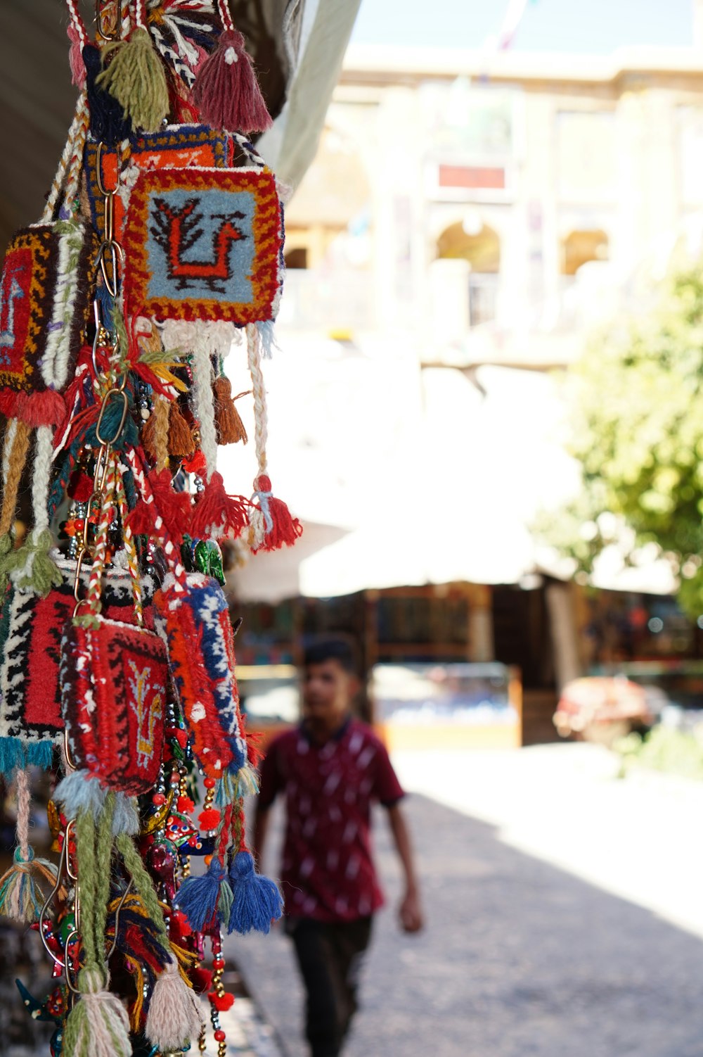
[[(246, 135), (270, 118), (225, 0), (97, 0), (94, 36), (65, 2), (76, 113), (0, 274), (0, 774), (17, 798), (0, 912), (53, 961), (51, 995), (22, 995), (56, 1054), (203, 1049), (209, 1002), (224, 1057), (221, 933), (268, 931), (281, 896), (244, 836), (256, 754), (220, 541), (300, 534), (266, 457), (284, 225)], [(251, 390), (233, 395), (242, 337)], [(250, 396), (253, 495), (217, 470)], [(28, 839), (36, 767), (58, 861)]]

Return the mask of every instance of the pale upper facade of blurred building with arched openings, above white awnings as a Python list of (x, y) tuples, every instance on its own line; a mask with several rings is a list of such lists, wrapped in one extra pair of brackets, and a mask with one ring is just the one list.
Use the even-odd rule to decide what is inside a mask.
[(286, 320), (421, 364), (565, 365), (703, 229), (695, 50), (350, 49), (288, 212)]

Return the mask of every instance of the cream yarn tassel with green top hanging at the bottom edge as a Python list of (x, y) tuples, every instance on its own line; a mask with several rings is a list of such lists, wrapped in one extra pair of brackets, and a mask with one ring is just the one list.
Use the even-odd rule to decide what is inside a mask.
[(97, 965), (78, 973), (80, 999), (69, 1014), (63, 1057), (132, 1057), (130, 1023), (125, 1006), (111, 991)]

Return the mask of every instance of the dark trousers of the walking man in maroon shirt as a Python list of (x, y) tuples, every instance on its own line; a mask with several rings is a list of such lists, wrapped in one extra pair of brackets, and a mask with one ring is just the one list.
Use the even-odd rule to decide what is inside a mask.
[(305, 991), (305, 1035), (311, 1057), (338, 1057), (357, 1009), (361, 961), (372, 919), (318, 922), (289, 917), (286, 931), (296, 947)]

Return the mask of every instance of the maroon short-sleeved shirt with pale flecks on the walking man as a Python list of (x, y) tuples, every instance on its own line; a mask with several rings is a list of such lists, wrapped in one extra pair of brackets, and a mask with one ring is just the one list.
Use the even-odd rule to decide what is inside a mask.
[(274, 738), (261, 767), (262, 808), (286, 799), (282, 884), (286, 913), (324, 922), (372, 914), (383, 903), (370, 848), (370, 805), (403, 791), (370, 727), (349, 719), (324, 745), (303, 726)]

